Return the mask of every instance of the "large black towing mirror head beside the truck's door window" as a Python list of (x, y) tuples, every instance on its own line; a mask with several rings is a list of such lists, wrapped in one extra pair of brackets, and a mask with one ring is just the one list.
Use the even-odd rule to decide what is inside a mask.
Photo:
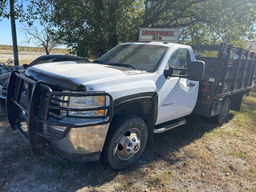
[(192, 61), (188, 67), (188, 79), (191, 81), (202, 81), (204, 77), (205, 63), (203, 61)]

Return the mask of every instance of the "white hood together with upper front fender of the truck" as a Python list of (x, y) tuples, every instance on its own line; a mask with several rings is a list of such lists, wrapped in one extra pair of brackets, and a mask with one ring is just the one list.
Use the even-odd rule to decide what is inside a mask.
[(26, 76), (43, 81), (57, 90), (106, 91), (114, 99), (124, 95), (156, 91), (158, 73), (135, 71), (136, 73), (133, 69), (97, 63), (65, 61), (28, 68)]

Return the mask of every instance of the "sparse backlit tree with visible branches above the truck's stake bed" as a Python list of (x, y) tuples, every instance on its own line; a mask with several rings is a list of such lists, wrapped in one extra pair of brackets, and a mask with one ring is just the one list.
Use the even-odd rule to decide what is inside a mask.
[(255, 39), (255, 0), (146, 1), (144, 27), (179, 28), (180, 43), (226, 42), (243, 46)]

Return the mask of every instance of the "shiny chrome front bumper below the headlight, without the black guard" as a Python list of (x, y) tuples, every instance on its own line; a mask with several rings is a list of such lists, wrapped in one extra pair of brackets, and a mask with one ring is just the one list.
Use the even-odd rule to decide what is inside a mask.
[[(98, 161), (108, 132), (108, 124), (71, 129), (60, 140), (47, 139), (56, 153), (73, 161)], [(61, 134), (66, 127), (44, 125), (44, 133)]]

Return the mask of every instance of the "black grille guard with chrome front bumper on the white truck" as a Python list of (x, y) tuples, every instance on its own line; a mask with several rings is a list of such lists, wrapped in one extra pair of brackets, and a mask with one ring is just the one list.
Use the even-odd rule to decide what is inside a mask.
[[(92, 108), (70, 108), (53, 105), (55, 97), (106, 95), (109, 105)], [(62, 103), (63, 104), (63, 103)], [(6, 109), (9, 123), (29, 143), (35, 156), (42, 156), (45, 140), (57, 153), (76, 161), (96, 161), (103, 148), (109, 123), (113, 118), (113, 98), (106, 92), (67, 93), (52, 91), (44, 82), (35, 82), (12, 71), (7, 88)], [(107, 110), (104, 116), (58, 117), (53, 111)], [(20, 123), (27, 122), (28, 131)]]

